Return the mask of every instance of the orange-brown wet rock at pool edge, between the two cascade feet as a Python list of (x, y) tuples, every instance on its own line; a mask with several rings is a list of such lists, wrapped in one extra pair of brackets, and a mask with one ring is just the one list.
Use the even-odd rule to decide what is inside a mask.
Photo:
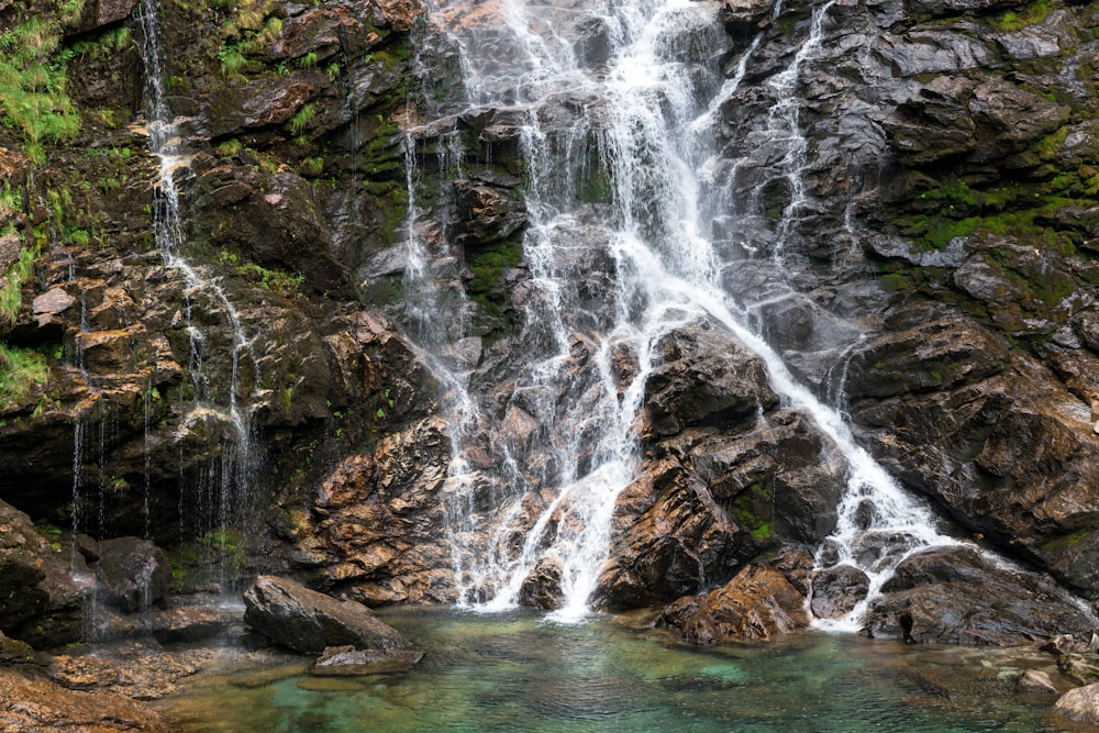
[(804, 600), (782, 574), (752, 564), (718, 590), (675, 601), (657, 614), (655, 623), (675, 628), (684, 638), (701, 644), (765, 641), (809, 625)]

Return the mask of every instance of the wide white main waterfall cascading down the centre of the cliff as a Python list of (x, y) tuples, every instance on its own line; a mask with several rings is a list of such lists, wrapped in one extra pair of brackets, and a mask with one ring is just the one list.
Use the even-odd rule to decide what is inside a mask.
[[(459, 602), (513, 607), (528, 580), (541, 575), (559, 585), (555, 618), (585, 615), (608, 557), (615, 500), (640, 473), (635, 424), (655, 346), (697, 320), (720, 323), (753, 351), (785, 404), (807, 415), (846, 460), (839, 526), (818, 553), (819, 566), (861, 565), (873, 596), (902, 557), (955, 542), (857, 445), (841, 413), (799, 384), (754, 325), (742, 293), (726, 285), (724, 273), (742, 253), (719, 246), (711, 222), (736, 221), (734, 214), (758, 202), (722, 182), (713, 121), (763, 34), (725, 78), (713, 60), (713, 48), (726, 43), (717, 3), (625, 0), (580, 8), (500, 0), (479, 14), (467, 14), (458, 0), (429, 4), (437, 32), (459, 49), (465, 76), (459, 98), (436, 108), (439, 119), (421, 132), (447, 120), (456, 129), (463, 114), (507, 110), (519, 120), (526, 164), (522, 246), (530, 282), (521, 363), (511, 365), (507, 388), (453, 362), (443, 379), (452, 398), (462, 393), (446, 408), (457, 466), (447, 497)], [(778, 167), (789, 191), (779, 237), (809, 202), (797, 87), (821, 47), (830, 7), (814, 10), (808, 36), (769, 82), (776, 102), (767, 144), (782, 151)], [(576, 35), (593, 27), (607, 47), (595, 59), (585, 57)], [(781, 252), (779, 242), (764, 264), (789, 293)], [(423, 248), (412, 254), (431, 256)], [(464, 303), (435, 313), (462, 331)], [(424, 346), (437, 352), (443, 344)], [(478, 453), (495, 464), (466, 460)], [(868, 522), (865, 502), (874, 508)], [(864, 608), (841, 623), (854, 622)]]

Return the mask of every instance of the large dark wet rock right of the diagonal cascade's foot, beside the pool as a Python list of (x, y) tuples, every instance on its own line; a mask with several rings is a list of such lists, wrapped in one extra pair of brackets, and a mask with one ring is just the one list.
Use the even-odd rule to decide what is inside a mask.
[(1095, 620), (1048, 578), (997, 565), (970, 547), (904, 559), (866, 614), (863, 633), (917, 643), (1010, 645)]

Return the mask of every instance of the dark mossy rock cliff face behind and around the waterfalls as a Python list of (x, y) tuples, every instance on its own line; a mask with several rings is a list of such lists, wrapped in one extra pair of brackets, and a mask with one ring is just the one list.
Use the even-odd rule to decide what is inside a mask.
[[(712, 236), (752, 325), (955, 533), (1092, 598), (1099, 11), (710, 4), (725, 32), (698, 62), (742, 75), (717, 110), (715, 175), (748, 193), (714, 216)], [(491, 23), (489, 10), (447, 22)], [(430, 340), (417, 332), (423, 303), (402, 298), (402, 225), (410, 181), (433, 191), (415, 202), (420, 235), (446, 244), (436, 285), (465, 293), (467, 315), (446, 358), (498, 385), (499, 424), (477, 426), (466, 456), (491, 473), (493, 435), (539, 435), (508, 378), (515, 344), (536, 336), (523, 315), (537, 303), (522, 249), (522, 121), (508, 108), (446, 116), (436, 102), (460, 73), (457, 52), (412, 3), (163, 3), (191, 274), (156, 241), (165, 195), (141, 11), (0, 2), (0, 499), (54, 540), (42, 553), (67, 557), (73, 534), (148, 536), (169, 551), (177, 590), (212, 560), (223, 579), (279, 568), (373, 603), (454, 600), (447, 385), (413, 345)], [(584, 63), (604, 63), (607, 29), (568, 18)], [(791, 98), (792, 147), (774, 130)], [(544, 123), (575, 116), (563, 103)], [(585, 182), (592, 221), (604, 175)], [(581, 243), (563, 267), (598, 302), (613, 264), (598, 237)], [(777, 248), (779, 281), (761, 275)], [(577, 367), (591, 358), (580, 334), (571, 345)], [(835, 446), (715, 324), (688, 324), (656, 353), (643, 471), (619, 500), (598, 602), (673, 603), (657, 622), (699, 638), (804, 623), (807, 548), (834, 529), (845, 480)], [(623, 379), (632, 358), (617, 355)], [(536, 457), (525, 468), (535, 482), (540, 469)], [(958, 562), (978, 568), (970, 581), (1002, 579)], [(553, 606), (543, 570), (524, 597)], [(944, 585), (966, 582), (921, 573), (895, 590), (951, 596)], [(31, 570), (0, 577), (20, 592), (38, 582)], [(695, 598), (711, 590), (720, 598)], [(49, 608), (71, 614), (62, 596), (0, 630)], [(721, 626), (699, 615), (704, 603), (719, 615), (786, 610), (773, 623), (737, 611), (756, 621)], [(884, 603), (870, 628), (924, 638), (921, 618)], [(959, 622), (956, 641), (996, 635), (974, 623)], [(1086, 624), (1051, 612), (1050, 628), (1002, 637)], [(65, 628), (54, 643), (77, 633)]]

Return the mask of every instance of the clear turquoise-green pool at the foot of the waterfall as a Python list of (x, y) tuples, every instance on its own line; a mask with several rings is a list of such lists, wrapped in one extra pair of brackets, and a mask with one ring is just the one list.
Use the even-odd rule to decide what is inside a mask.
[(1052, 659), (799, 634), (766, 645), (684, 645), (612, 620), (402, 611), (426, 651), (411, 673), (317, 678), (304, 665), (230, 658), (159, 707), (185, 731), (1054, 731), (1052, 696), (1014, 695)]

